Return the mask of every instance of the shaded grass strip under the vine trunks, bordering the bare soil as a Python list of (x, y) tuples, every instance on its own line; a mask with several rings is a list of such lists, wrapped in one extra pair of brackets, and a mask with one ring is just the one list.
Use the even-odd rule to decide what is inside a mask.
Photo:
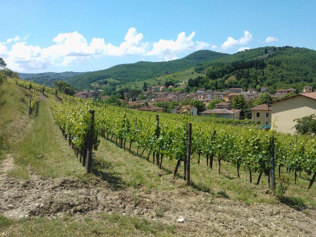
[[(128, 143), (126, 143), (128, 144)], [(172, 182), (173, 170), (175, 161), (163, 159), (162, 168), (153, 165), (143, 158), (137, 157), (137, 146), (132, 144), (132, 153), (128, 153), (124, 149), (119, 149), (115, 143), (111, 143), (104, 138), (101, 138), (101, 143), (98, 150), (94, 153), (94, 161), (104, 160), (106, 166), (98, 167), (98, 172), (106, 172), (107, 178), (113, 180), (116, 177), (116, 182), (123, 184), (121, 188), (127, 186), (137, 187), (143, 184), (149, 191), (156, 188), (161, 191), (172, 191), (175, 188), (186, 187), (181, 180), (183, 177), (183, 163), (179, 167), (177, 182)], [(142, 149), (140, 148), (142, 151)], [(143, 157), (147, 157), (148, 151), (144, 152)], [(150, 156), (150, 161), (152, 156)], [(218, 163), (214, 159), (213, 170), (206, 167), (206, 158), (201, 156), (201, 164), (197, 164), (197, 157), (193, 154), (191, 162), (191, 190), (199, 190), (210, 193), (211, 197), (228, 198), (234, 201), (242, 201), (245, 204), (254, 203), (276, 203), (278, 202), (269, 192), (268, 180), (266, 176), (262, 176), (260, 184), (254, 185), (258, 178), (258, 173), (252, 173), (252, 183), (249, 182), (249, 172), (240, 169), (240, 179), (237, 178), (236, 167), (228, 162), (222, 161), (221, 173), (217, 172)], [(281, 170), (285, 173), (285, 169)], [(309, 176), (302, 173), (301, 178), (294, 184), (294, 173), (284, 174), (290, 177), (289, 189), (285, 194), (289, 206), (293, 203), (297, 205), (305, 205), (316, 207), (316, 188), (312, 186), (310, 190), (307, 189), (309, 183)], [(112, 177), (112, 178), (111, 178)], [(102, 177), (100, 177), (102, 178)], [(293, 202), (290, 202), (292, 200)]]

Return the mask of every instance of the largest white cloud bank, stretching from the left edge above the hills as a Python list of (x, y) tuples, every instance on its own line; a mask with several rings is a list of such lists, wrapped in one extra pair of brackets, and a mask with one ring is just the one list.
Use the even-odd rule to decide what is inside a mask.
[[(177, 53), (186, 50), (199, 50), (209, 47), (206, 42), (193, 41), (195, 32), (189, 36), (185, 32), (179, 33), (177, 40), (159, 40), (158, 42), (143, 42), (143, 34), (137, 33), (135, 28), (130, 28), (124, 40), (119, 46), (106, 43), (104, 39), (93, 38), (88, 42), (84, 36), (77, 31), (71, 33), (59, 33), (53, 38), (53, 45), (47, 48), (27, 45), (26, 37), (16, 36), (11, 50), (0, 44), (0, 57), (4, 58), (8, 67), (13, 70), (23, 71), (26, 69), (43, 69), (56, 65), (68, 65), (72, 62), (90, 60), (98, 56), (157, 56), (167, 60), (177, 59)], [(8, 41), (7, 40), (7, 41)]]

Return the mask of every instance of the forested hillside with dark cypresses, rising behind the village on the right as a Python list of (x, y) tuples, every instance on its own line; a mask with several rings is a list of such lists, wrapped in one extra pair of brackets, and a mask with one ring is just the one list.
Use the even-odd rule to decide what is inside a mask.
[(191, 81), (191, 87), (268, 87), (270, 93), (281, 88), (301, 90), (307, 84), (315, 88), (316, 51), (290, 46), (261, 47), (200, 63), (194, 70), (206, 78)]

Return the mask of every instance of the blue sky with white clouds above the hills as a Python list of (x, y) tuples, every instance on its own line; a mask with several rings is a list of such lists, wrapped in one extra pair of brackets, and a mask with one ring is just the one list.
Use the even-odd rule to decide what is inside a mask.
[(94, 71), (201, 49), (316, 50), (316, 1), (0, 0), (0, 58), (18, 72)]

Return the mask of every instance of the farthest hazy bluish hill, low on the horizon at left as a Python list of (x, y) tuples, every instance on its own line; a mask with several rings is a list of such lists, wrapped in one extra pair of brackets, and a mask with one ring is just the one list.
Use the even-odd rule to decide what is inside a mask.
[(19, 73), (19, 77), (23, 80), (31, 80), (38, 84), (53, 86), (54, 81), (65, 81), (71, 77), (81, 75), (85, 72), (44, 72), (44, 73)]

